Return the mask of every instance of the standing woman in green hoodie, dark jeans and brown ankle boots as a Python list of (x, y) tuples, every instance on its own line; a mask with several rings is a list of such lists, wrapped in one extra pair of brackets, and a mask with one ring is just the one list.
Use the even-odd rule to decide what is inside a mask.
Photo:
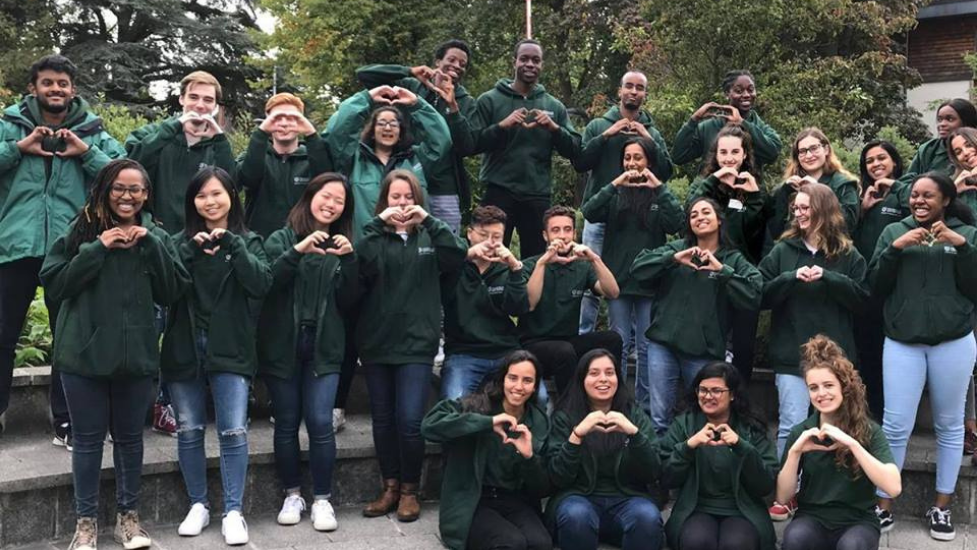
[(410, 170), (387, 174), (375, 212), (357, 243), (363, 302), (356, 347), (384, 487), (363, 515), (396, 509), (397, 519), (409, 522), (421, 513), (421, 420), (441, 335), (440, 280), (461, 267), (468, 247), (424, 210), (424, 191)]

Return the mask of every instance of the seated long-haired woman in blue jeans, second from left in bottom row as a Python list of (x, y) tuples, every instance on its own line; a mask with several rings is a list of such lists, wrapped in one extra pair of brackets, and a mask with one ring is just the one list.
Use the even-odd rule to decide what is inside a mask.
[(655, 430), (635, 404), (614, 354), (580, 358), (560, 396), (547, 445), (556, 494), (546, 516), (562, 550), (659, 550), (662, 516), (649, 485), (661, 475)]

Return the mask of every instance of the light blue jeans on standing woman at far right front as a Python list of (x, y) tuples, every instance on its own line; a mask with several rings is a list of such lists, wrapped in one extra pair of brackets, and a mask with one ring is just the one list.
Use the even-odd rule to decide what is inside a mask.
[[(963, 408), (967, 380), (974, 371), (977, 342), (973, 334), (935, 346), (904, 344), (888, 337), (882, 348), (885, 414), (882, 431), (902, 470), (906, 445), (916, 424), (916, 409), (929, 387), (936, 432), (936, 492), (952, 495), (963, 451)], [(885, 498), (881, 491), (879, 496)]]

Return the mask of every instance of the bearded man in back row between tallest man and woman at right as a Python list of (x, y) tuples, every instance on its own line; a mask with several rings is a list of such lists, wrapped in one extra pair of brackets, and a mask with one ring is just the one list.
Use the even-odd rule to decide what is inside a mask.
[[(648, 96), (648, 77), (640, 71), (628, 71), (621, 77), (617, 90), (618, 104), (603, 116), (591, 120), (583, 134), (583, 150), (573, 161), (578, 172), (590, 171), (587, 187), (580, 204), (621, 175), (621, 152), (628, 138), (641, 136), (655, 142), (656, 158), (652, 172), (662, 183), (672, 177), (672, 161), (655, 121), (641, 106)], [(649, 159), (650, 160), (650, 159)], [(604, 224), (584, 221), (583, 244), (598, 256), (604, 246)], [(580, 308), (580, 332), (594, 330), (597, 321), (598, 300), (589, 292)]]

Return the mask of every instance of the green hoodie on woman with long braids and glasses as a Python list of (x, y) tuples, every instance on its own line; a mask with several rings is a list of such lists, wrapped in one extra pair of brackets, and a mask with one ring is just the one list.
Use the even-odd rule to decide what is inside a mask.
[(132, 248), (109, 249), (95, 239), (69, 254), (66, 235), (44, 258), (44, 291), (61, 303), (53, 355), (61, 372), (124, 378), (159, 371), (154, 304), (179, 299), (190, 276), (173, 241), (148, 213), (140, 224), (149, 232)]

